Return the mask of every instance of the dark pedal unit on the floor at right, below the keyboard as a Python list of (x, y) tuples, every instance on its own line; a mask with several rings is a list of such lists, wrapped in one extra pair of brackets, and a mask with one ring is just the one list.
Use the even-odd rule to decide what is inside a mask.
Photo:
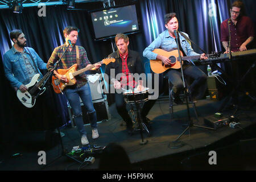
[(205, 125), (212, 127), (213, 129), (218, 129), (223, 126), (229, 126), (229, 118), (216, 117), (216, 115), (210, 115), (204, 118)]

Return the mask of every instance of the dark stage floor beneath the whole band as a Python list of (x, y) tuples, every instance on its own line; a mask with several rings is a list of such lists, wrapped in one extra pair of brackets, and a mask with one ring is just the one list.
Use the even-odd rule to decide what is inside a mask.
[[(195, 125), (205, 126), (204, 118), (217, 112), (221, 101), (200, 100), (196, 103), (199, 121), (195, 117), (192, 105), (190, 106), (191, 121)], [(186, 129), (188, 114), (186, 105), (174, 106), (174, 118), (169, 121), (168, 100), (156, 101), (150, 113), (151, 136), (143, 133), (147, 144), (141, 145), (142, 138), (139, 131), (132, 136), (127, 135), (123, 121), (115, 110), (115, 105), (109, 107), (111, 119), (98, 123), (98, 139), (92, 139), (89, 125), (85, 125), (88, 140), (93, 146), (106, 146), (115, 142), (125, 148), (130, 162), (135, 170), (232, 170), (256, 169), (255, 138), (256, 138), (256, 112), (254, 107), (249, 108), (248, 102), (241, 103), (241, 109), (236, 112), (241, 125), (236, 129), (224, 126), (216, 130), (209, 130), (192, 126), (179, 139), (184, 146), (174, 147), (172, 142)], [(225, 117), (233, 115), (234, 110), (225, 110)], [(76, 127), (61, 129), (65, 134), (62, 137), (66, 151), (71, 151), (74, 146), (81, 146), (80, 137)], [(249, 146), (249, 147), (248, 147)], [(38, 152), (46, 151), (47, 165), (38, 164)], [(21, 156), (1, 159), (0, 170), (97, 170), (100, 155), (95, 156), (95, 162), (82, 166), (75, 160), (61, 156), (61, 145), (56, 144), (51, 148), (44, 146), (26, 145), (19, 149)], [(209, 164), (209, 152), (216, 151), (217, 164)], [(60, 156), (60, 157), (59, 157)], [(93, 155), (92, 155), (93, 156)], [(253, 158), (251, 158), (253, 156)]]

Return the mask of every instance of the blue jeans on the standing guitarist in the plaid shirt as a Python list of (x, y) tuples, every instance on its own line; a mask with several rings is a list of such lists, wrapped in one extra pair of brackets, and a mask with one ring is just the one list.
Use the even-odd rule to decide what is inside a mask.
[[(65, 96), (73, 110), (73, 118), (76, 122), (77, 130), (80, 135), (86, 135), (84, 122), (82, 120), (82, 108), (80, 105), (80, 98), (85, 106), (87, 114), (89, 115), (90, 126), (92, 129), (97, 128), (96, 111), (93, 107), (92, 96), (90, 94), (90, 86), (86, 83), (84, 86), (78, 88), (76, 85), (69, 86), (64, 90)], [(79, 98), (80, 97), (80, 98)]]

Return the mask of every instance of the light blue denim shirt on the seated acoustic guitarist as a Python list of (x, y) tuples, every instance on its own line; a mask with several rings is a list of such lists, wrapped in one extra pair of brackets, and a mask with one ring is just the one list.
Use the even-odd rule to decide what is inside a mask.
[[(183, 32), (183, 34), (185, 34)], [(185, 34), (188, 36), (188, 34)], [(194, 52), (193, 48), (191, 47), (191, 44), (179, 34), (180, 38), (180, 44), (183, 48), (183, 51), (187, 56), (199, 56), (199, 53)], [(163, 31), (161, 34), (159, 34), (158, 38), (156, 38), (146, 49), (143, 51), (143, 56), (147, 57), (149, 60), (155, 60), (157, 54), (152, 52), (156, 48), (161, 48), (164, 51), (173, 51), (174, 49), (177, 49), (177, 43), (175, 41), (175, 38), (172, 38), (168, 32), (168, 30)], [(189, 61), (192, 64), (194, 64), (192, 61)]]

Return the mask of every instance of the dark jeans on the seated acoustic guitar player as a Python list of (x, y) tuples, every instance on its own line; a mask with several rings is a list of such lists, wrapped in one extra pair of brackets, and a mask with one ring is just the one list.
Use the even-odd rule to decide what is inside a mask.
[[(183, 65), (183, 73), (185, 78), (191, 77), (193, 79), (192, 84), (189, 86), (192, 98), (196, 100), (202, 98), (207, 89), (207, 85), (205, 84), (207, 75), (201, 69), (190, 64)], [(179, 94), (184, 88), (180, 69), (170, 69), (167, 75), (172, 85), (174, 85), (172, 90), (175, 94)]]

